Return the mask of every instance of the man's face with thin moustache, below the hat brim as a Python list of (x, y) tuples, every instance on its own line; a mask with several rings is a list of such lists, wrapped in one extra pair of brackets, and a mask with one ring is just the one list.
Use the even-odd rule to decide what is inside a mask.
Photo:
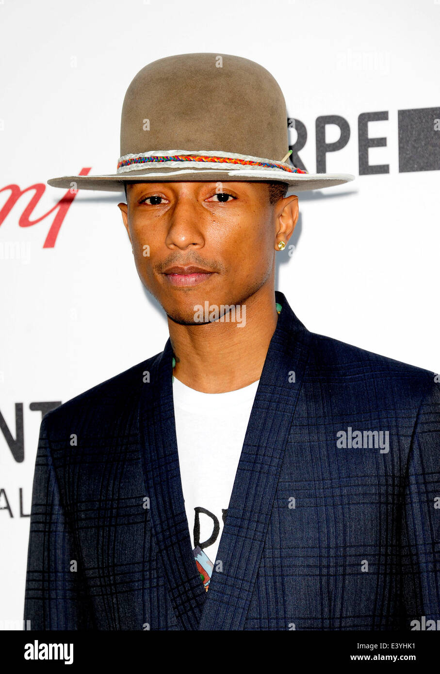
[(270, 282), (292, 233), (279, 234), (278, 215), (291, 230), (298, 216), (297, 197), (272, 205), (267, 184), (243, 181), (132, 183), (119, 208), (139, 278), (181, 324), (195, 323), (195, 305), (240, 305)]

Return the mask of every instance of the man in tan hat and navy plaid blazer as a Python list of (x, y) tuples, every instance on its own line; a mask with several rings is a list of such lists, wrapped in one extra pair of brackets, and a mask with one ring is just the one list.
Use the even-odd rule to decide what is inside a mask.
[(49, 181), (126, 187), (137, 272), (170, 338), (42, 420), (31, 629), (440, 619), (439, 384), (309, 332), (275, 292), (298, 218), (286, 189), (352, 179), (310, 175), (288, 154), (268, 71), (178, 55), (131, 82), (116, 174)]

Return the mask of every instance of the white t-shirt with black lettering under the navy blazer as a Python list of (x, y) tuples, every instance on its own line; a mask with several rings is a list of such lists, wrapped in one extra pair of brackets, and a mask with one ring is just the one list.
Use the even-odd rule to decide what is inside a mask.
[(195, 563), (208, 590), (258, 381), (201, 393), (174, 377), (183, 498)]

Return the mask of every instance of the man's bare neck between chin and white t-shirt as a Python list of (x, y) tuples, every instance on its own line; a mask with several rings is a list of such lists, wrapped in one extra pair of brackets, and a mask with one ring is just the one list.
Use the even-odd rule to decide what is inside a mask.
[(259, 379), (278, 319), (274, 288), (259, 288), (244, 304), (245, 325), (182, 326), (168, 318), (179, 381), (203, 393), (225, 393)]

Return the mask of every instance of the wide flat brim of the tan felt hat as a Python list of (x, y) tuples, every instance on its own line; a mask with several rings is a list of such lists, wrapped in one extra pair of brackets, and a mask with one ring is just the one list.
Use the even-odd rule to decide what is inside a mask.
[[(247, 169), (233, 170), (212, 168), (154, 168), (146, 171), (129, 171), (125, 173), (113, 173), (112, 175), (69, 175), (60, 178), (51, 178), (47, 181), (51, 187), (64, 189), (94, 189), (98, 191), (119, 192), (124, 191), (124, 183), (166, 183), (180, 181), (279, 181), (294, 187), (295, 191), (309, 189), (322, 189), (343, 185), (354, 180), (350, 173), (287, 173), (282, 169)], [(291, 191), (291, 190), (289, 190)]]

